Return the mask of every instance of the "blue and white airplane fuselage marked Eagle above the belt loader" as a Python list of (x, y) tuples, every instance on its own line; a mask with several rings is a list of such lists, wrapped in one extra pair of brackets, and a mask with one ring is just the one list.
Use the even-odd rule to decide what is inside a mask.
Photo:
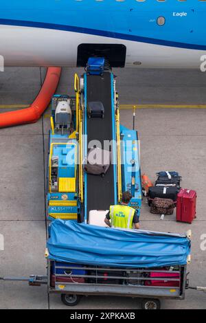
[(0, 4), (0, 55), (8, 66), (76, 67), (81, 44), (124, 45), (128, 67), (199, 67), (206, 54), (206, 1)]

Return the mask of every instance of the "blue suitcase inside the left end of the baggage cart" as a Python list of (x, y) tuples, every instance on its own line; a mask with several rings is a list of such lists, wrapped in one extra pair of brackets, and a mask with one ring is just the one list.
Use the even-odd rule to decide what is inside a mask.
[[(58, 268), (61, 267), (61, 268)], [(80, 269), (71, 269), (72, 267), (80, 267)], [(86, 275), (87, 271), (82, 269), (82, 265), (69, 263), (52, 263), (52, 274), (58, 275)]]

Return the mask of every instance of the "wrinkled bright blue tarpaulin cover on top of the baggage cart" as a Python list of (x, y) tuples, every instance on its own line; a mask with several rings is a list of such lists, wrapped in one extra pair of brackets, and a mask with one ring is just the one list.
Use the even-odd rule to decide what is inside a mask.
[(150, 268), (186, 265), (190, 239), (178, 234), (117, 230), (56, 220), (49, 228), (49, 259), (81, 265)]

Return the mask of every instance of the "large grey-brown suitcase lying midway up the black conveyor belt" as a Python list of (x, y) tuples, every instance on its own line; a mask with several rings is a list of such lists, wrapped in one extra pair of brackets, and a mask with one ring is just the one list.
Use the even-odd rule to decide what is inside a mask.
[(91, 148), (87, 155), (87, 164), (84, 170), (88, 174), (102, 175), (106, 174), (111, 164), (111, 152), (100, 148)]

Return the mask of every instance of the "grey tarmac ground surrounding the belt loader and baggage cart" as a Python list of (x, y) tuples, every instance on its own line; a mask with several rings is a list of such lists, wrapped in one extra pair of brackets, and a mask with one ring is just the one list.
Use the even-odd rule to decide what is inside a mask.
[[(73, 74), (63, 69), (57, 93), (73, 95)], [(121, 104), (206, 104), (206, 74), (176, 69), (115, 69)], [(30, 104), (41, 86), (38, 68), (6, 68), (0, 74), (0, 104)], [(0, 113), (10, 111), (3, 109)], [(0, 276), (45, 274), (45, 165), (49, 109), (36, 124), (1, 129), (0, 135)], [(1, 115), (0, 115), (1, 118)], [(131, 127), (133, 111), (122, 110), (121, 122)], [(152, 180), (159, 170), (177, 170), (182, 186), (198, 192), (197, 219), (176, 223), (175, 214), (163, 221), (144, 203), (141, 228), (183, 233), (192, 230), (190, 285), (206, 286), (206, 109), (137, 109), (136, 129), (141, 141), (141, 170)], [(163, 309), (205, 309), (206, 294), (186, 291), (185, 300), (164, 300)], [(139, 309), (139, 300), (88, 297), (77, 309)], [(0, 309), (65, 309), (59, 296), (47, 296), (46, 287), (0, 282)]]

